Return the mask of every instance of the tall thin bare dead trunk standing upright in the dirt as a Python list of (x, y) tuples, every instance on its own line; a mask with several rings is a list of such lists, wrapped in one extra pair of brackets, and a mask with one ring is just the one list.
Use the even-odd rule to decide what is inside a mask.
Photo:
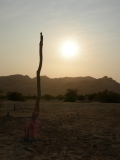
[(39, 43), (39, 66), (38, 70), (36, 72), (37, 76), (37, 98), (36, 98), (36, 104), (34, 111), (32, 113), (32, 117), (30, 122), (25, 126), (25, 140), (27, 141), (33, 141), (35, 139), (35, 125), (36, 125), (36, 120), (39, 115), (39, 108), (40, 108), (40, 97), (41, 97), (41, 83), (40, 83), (40, 72), (42, 68), (42, 61), (43, 61), (43, 56), (42, 56), (42, 48), (43, 48), (43, 35), (40, 33), (40, 43)]

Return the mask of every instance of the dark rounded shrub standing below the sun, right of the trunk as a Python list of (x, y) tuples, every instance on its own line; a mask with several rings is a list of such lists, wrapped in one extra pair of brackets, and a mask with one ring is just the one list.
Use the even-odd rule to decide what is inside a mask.
[(64, 95), (65, 102), (75, 102), (77, 99), (77, 90), (67, 89), (67, 92)]

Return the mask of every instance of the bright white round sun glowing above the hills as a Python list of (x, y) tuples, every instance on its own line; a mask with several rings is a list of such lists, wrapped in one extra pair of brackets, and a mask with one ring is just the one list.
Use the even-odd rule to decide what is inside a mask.
[(78, 53), (78, 46), (72, 40), (65, 41), (61, 46), (61, 53), (66, 58), (72, 58)]

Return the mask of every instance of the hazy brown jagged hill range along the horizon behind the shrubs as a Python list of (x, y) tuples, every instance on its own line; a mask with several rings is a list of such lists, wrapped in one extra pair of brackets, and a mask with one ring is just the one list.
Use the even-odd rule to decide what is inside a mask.
[[(23, 75), (10, 75), (0, 77), (0, 90), (3, 93), (17, 91), (24, 95), (36, 95), (36, 78)], [(107, 76), (93, 77), (64, 77), (49, 78), (41, 76), (42, 95), (64, 94), (67, 89), (77, 89), (79, 94), (95, 93), (105, 89), (120, 93), (120, 83)]]

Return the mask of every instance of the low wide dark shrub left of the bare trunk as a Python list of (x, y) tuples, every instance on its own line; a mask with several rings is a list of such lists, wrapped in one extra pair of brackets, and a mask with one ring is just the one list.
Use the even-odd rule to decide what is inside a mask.
[(24, 101), (25, 97), (19, 92), (8, 92), (7, 99), (11, 101)]

